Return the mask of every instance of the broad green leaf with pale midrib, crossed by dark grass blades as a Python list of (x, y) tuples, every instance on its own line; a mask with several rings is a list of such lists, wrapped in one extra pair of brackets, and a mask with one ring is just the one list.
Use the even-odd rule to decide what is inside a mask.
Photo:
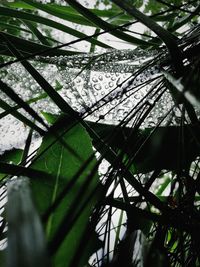
[[(65, 132), (68, 127), (62, 124), (61, 129), (58, 129), (57, 135)], [(55, 130), (54, 130), (55, 131)], [(43, 143), (38, 151), (38, 155), (46, 150), (49, 144), (54, 143), (50, 150), (40, 156), (39, 160), (32, 164), (31, 168), (51, 173), (51, 180), (32, 179), (31, 186), (34, 193), (35, 202), (40, 210), (40, 213), (45, 213), (46, 210), (52, 205), (58, 195), (62, 192), (63, 187), (71, 182), (76, 172), (79, 170), (84, 161), (93, 154), (91, 141), (84, 130), (84, 128), (77, 124), (70, 130), (68, 130), (62, 139), (71, 146), (83, 158), (76, 158), (63, 147), (61, 142), (56, 141), (55, 135), (47, 134), (43, 139)], [(56, 142), (55, 142), (56, 141)], [(66, 216), (68, 210), (70, 210), (73, 202), (76, 201), (79, 190), (84, 186), (87, 172), (96, 164), (95, 159), (81, 174), (81, 176), (74, 182), (70, 191), (66, 194), (62, 202), (59, 204), (54, 213), (49, 217), (47, 223), (47, 234), (49, 239), (55, 238), (56, 232), (60, 229), (62, 219)], [(79, 202), (83, 202), (87, 198), (89, 192), (94, 190), (98, 184), (97, 174), (95, 174), (92, 184), (87, 188), (87, 192), (82, 195)], [(40, 191), (40, 193), (38, 192)], [(59, 248), (56, 250), (54, 261), (56, 266), (70, 266), (70, 261), (73, 259), (73, 255), (76, 253), (81, 237), (84, 234), (85, 228), (88, 224), (91, 208), (96, 202), (96, 197), (88, 202), (87, 207), (82, 211), (80, 218), (72, 225), (71, 230), (64, 238), (64, 241), (59, 244)], [(77, 207), (74, 207), (74, 213), (77, 212)], [(70, 218), (68, 218), (70, 221)], [(65, 227), (66, 228), (66, 227)], [(63, 236), (62, 236), (63, 238)], [(76, 242), (75, 242), (76, 240)], [(71, 244), (69, 246), (68, 244)], [(63, 259), (66, 259), (63, 261)]]

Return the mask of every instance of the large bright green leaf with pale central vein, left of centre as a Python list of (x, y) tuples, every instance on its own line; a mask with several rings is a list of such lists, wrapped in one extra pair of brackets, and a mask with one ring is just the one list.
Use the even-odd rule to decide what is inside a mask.
[[(87, 181), (93, 167), (96, 165), (95, 158), (91, 160), (80, 176), (73, 180), (85, 161), (93, 155), (91, 140), (85, 129), (78, 123), (71, 129), (62, 120), (58, 121), (56, 125), (61, 127), (54, 126), (52, 133), (49, 132), (44, 137), (37, 153), (38, 159), (31, 165), (31, 168), (51, 174), (53, 178), (46, 179), (44, 177), (44, 179), (39, 179), (35, 177), (31, 180), (31, 186), (38, 210), (41, 214), (44, 214), (63, 189), (71, 184), (70, 190), (66, 192), (46, 223), (46, 234), (50, 244), (55, 245), (58, 242), (57, 247), (52, 249), (52, 253), (55, 253), (53, 266), (67, 267), (70, 266), (70, 262), (78, 250), (92, 208), (97, 202), (98, 194), (95, 193), (95, 190), (99, 180), (95, 172)], [(58, 136), (65, 131), (62, 142), (57, 140), (55, 134)], [(63, 145), (63, 142), (67, 147), (70, 147), (70, 150)], [(74, 150), (73, 154), (71, 150)], [(95, 195), (90, 198), (92, 193), (95, 193)], [(83, 209), (81, 209), (82, 205)], [(77, 220), (71, 222), (72, 218), (77, 215), (79, 215)], [(65, 228), (69, 227), (70, 224), (71, 228), (65, 233)], [(61, 238), (61, 241), (59, 241), (59, 238)], [(85, 242), (88, 243), (88, 240), (85, 240)], [(88, 249), (87, 257), (92, 252), (92, 248)], [(85, 260), (86, 255), (81, 256), (84, 256)]]

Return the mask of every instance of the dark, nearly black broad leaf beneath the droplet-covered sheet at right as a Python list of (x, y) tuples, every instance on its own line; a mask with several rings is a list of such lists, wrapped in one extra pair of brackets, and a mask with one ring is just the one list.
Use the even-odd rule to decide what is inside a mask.
[[(132, 172), (145, 173), (156, 168), (167, 170), (179, 168), (180, 127), (178, 126), (158, 127), (155, 131), (153, 128), (147, 128), (137, 132), (128, 127), (115, 129), (116, 126), (106, 124), (91, 123), (91, 127), (105, 140), (108, 146), (118, 153), (121, 151), (127, 154), (128, 158), (132, 159), (134, 166)], [(198, 125), (189, 125), (183, 128), (186, 165), (190, 165), (199, 156), (198, 141), (192, 131), (196, 133), (196, 136), (200, 136)], [(98, 141), (94, 140), (94, 145), (99, 152), (105, 152), (105, 148), (98, 147)]]

